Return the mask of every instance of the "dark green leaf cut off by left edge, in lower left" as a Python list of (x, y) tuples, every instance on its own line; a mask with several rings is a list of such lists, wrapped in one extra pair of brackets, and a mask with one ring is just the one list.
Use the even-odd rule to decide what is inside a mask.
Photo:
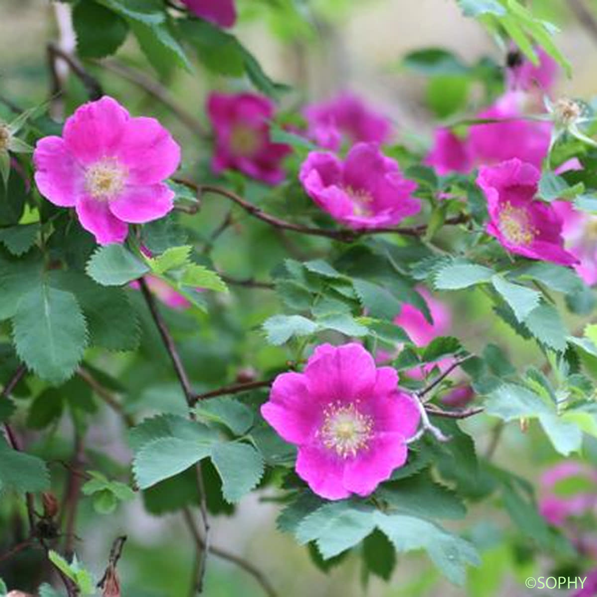
[(37, 493), (50, 487), (50, 472), (36, 456), (13, 450), (0, 438), (0, 491)]

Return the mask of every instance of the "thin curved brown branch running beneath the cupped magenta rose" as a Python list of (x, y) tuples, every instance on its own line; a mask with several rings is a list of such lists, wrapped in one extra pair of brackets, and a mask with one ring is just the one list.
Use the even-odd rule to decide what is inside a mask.
[[(389, 227), (389, 228), (373, 228), (373, 229), (359, 229), (359, 230), (349, 230), (347, 228), (344, 229), (333, 229), (328, 230), (325, 228), (314, 228), (310, 226), (303, 226), (301, 224), (294, 224), (293, 222), (289, 222), (287, 220), (282, 220), (281, 218), (272, 216), (271, 214), (266, 213), (265, 211), (261, 210), (260, 207), (254, 205), (253, 203), (246, 201), (241, 196), (236, 195), (236, 193), (224, 189), (223, 187), (216, 186), (214, 184), (198, 184), (194, 183), (191, 180), (187, 179), (174, 179), (177, 183), (184, 184), (185, 186), (189, 187), (190, 189), (195, 190), (197, 193), (215, 193), (216, 195), (221, 195), (230, 199), (230, 201), (235, 202), (236, 205), (242, 207), (250, 216), (257, 218), (273, 226), (277, 229), (281, 230), (291, 230), (292, 232), (298, 232), (301, 234), (307, 234), (311, 236), (323, 236), (325, 238), (330, 238), (335, 241), (340, 242), (354, 242), (356, 239), (360, 238), (361, 236), (365, 235), (373, 235), (373, 234), (402, 234), (406, 236), (421, 236), (427, 230), (427, 224), (420, 224), (419, 226), (412, 226), (412, 227)], [(460, 214), (459, 216), (455, 216), (450, 218), (444, 222), (446, 225), (456, 225), (456, 224), (463, 224), (468, 221), (468, 216), (466, 214)]]

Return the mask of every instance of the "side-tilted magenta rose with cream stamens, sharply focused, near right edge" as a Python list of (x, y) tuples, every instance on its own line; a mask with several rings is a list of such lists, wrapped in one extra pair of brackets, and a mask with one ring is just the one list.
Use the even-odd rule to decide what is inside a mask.
[(551, 205), (534, 198), (540, 176), (519, 159), (481, 168), (477, 184), (487, 198), (487, 232), (511, 253), (573, 265), (577, 259), (564, 250), (561, 218)]

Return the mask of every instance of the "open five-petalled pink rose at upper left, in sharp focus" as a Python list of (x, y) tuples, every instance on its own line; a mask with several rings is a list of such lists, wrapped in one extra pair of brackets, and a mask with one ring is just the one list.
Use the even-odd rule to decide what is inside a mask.
[(39, 192), (74, 207), (100, 244), (123, 242), (128, 224), (165, 216), (174, 192), (164, 180), (180, 164), (180, 147), (155, 118), (131, 118), (104, 96), (79, 107), (62, 137), (40, 139), (33, 153)]

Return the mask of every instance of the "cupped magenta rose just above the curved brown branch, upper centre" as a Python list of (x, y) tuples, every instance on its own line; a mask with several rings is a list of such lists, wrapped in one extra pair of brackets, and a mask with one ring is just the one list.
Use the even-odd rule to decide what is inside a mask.
[(421, 203), (412, 196), (417, 183), (402, 176), (398, 162), (376, 143), (358, 143), (344, 162), (311, 152), (299, 178), (307, 194), (334, 219), (353, 229), (393, 226), (414, 216)]

